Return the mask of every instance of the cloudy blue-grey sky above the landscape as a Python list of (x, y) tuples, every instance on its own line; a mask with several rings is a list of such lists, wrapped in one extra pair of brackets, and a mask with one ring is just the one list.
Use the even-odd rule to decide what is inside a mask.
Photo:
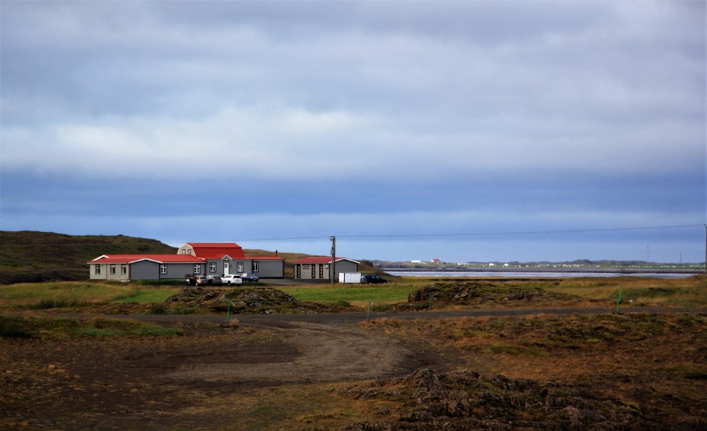
[(705, 261), (704, 1), (0, 0), (0, 24), (1, 230)]

